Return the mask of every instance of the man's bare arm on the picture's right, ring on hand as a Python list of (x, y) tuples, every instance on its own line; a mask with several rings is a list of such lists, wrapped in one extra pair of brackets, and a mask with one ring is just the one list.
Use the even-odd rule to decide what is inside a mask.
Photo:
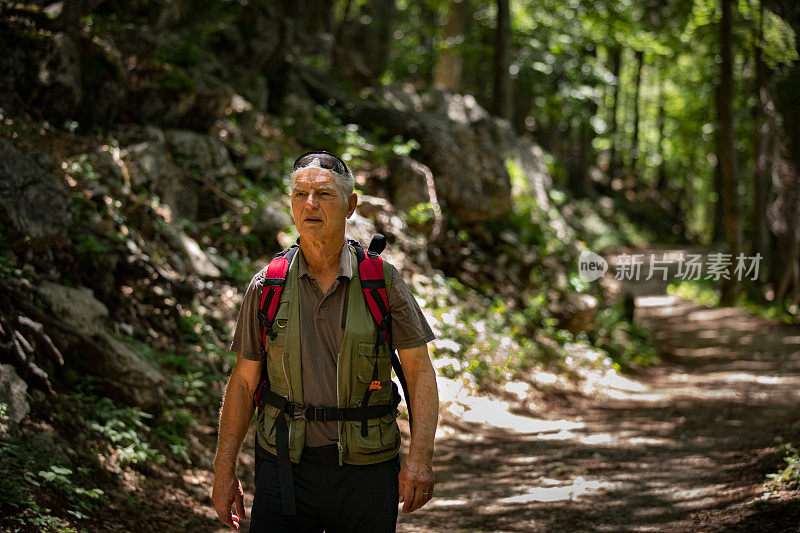
[(439, 391), (428, 345), (397, 350), (408, 384), (412, 413), (411, 444), (400, 469), (400, 501), (411, 513), (433, 497), (433, 438), (439, 421)]

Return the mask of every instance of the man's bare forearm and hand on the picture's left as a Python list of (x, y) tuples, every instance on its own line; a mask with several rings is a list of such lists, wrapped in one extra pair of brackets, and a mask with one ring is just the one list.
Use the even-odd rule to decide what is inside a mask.
[[(239, 529), (245, 517), (242, 484), (236, 477), (239, 450), (253, 419), (253, 393), (261, 378), (261, 361), (243, 359), (239, 354), (228, 379), (219, 413), (217, 455), (214, 458), (214, 489), (211, 499), (223, 524)], [(236, 513), (231, 513), (231, 506)]]

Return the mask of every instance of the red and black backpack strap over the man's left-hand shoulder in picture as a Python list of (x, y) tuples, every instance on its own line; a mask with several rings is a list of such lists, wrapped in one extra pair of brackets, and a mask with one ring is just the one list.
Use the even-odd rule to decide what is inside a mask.
[(261, 289), (261, 303), (258, 306), (258, 321), (261, 325), (262, 335), (262, 355), (264, 355), (264, 362), (261, 367), (261, 379), (256, 387), (256, 392), (253, 394), (253, 402), (256, 407), (262, 405), (262, 395), (265, 387), (269, 386), (269, 375), (267, 374), (267, 336), (275, 339), (277, 336), (272, 331), (272, 324), (275, 322), (275, 315), (278, 314), (278, 306), (281, 302), (281, 294), (283, 287), (286, 285), (286, 274), (289, 272), (289, 266), (292, 264), (297, 253), (297, 245), (293, 245), (282, 252), (279, 252), (267, 265), (267, 271), (264, 274), (264, 286)]

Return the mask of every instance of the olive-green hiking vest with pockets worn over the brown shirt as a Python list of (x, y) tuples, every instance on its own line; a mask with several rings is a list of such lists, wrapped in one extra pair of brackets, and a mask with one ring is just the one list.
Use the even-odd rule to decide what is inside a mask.
[[(347, 321), (342, 340), (341, 352), (337, 355), (336, 391), (338, 405), (333, 407), (360, 407), (364, 392), (372, 381), (372, 368), (375, 364), (375, 321), (367, 308), (361, 280), (358, 276), (358, 261), (355, 251), (347, 244), (353, 261), (353, 277), (350, 280), (347, 296)], [(286, 273), (286, 285), (281, 294), (278, 312), (273, 322), (277, 336), (272, 340), (267, 336), (266, 361), (269, 373), (270, 390), (303, 404), (303, 382), (300, 358), (300, 305), (297, 299), (297, 265), (300, 254), (295, 254)], [(391, 289), (391, 266), (383, 262), (383, 277), (387, 293)], [(369, 405), (390, 404), (392, 401), (391, 358), (386, 344), (378, 351), (378, 377), (381, 389), (372, 393)], [(323, 407), (323, 406), (317, 406)], [(264, 404), (257, 413), (258, 443), (266, 451), (276, 454), (275, 416), (278, 409)], [(397, 426), (399, 411), (393, 409), (381, 418), (368, 420), (368, 434), (361, 436), (361, 421), (340, 420), (339, 425), (339, 465), (372, 464), (393, 458), (400, 451), (400, 430)], [(289, 457), (299, 462), (306, 434), (304, 419), (287, 419), (289, 425)]]

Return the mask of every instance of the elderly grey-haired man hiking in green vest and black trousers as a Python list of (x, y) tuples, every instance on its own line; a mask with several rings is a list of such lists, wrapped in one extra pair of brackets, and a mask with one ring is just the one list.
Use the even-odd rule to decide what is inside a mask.
[(395, 531), (398, 501), (410, 513), (433, 496), (439, 400), (427, 342), (434, 336), (397, 270), (385, 264), (391, 344), (412, 414), (401, 467), (390, 351), (361, 286), (363, 250), (359, 256), (345, 239), (353, 187), (337, 156), (300, 156), (290, 179), (299, 251), (280, 281), (269, 334), (259, 309), (265, 283), (275, 280), (265, 281), (262, 270), (245, 293), (230, 346), (238, 358), (220, 411), (212, 496), (220, 520), (234, 529), (245, 516), (236, 462), (260, 383), (268, 401), (258, 409), (250, 531)]

